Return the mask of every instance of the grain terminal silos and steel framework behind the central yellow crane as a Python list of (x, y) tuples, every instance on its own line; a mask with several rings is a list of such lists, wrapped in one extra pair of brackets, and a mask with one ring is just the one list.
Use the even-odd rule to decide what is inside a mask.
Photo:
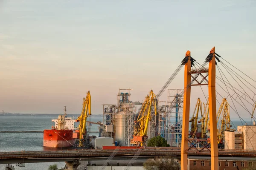
[[(180, 147), (183, 89), (168, 89), (168, 101), (156, 100), (157, 111), (151, 106), (150, 121), (148, 121), (147, 136), (162, 136), (170, 146)], [(117, 94), (117, 104), (103, 104), (103, 124), (99, 127), (99, 137), (114, 139), (121, 146), (134, 145), (134, 128), (138, 114), (143, 109), (143, 102), (130, 100), (131, 89), (120, 88)], [(144, 100), (145, 101), (145, 100)], [(166, 116), (166, 112), (169, 116)]]

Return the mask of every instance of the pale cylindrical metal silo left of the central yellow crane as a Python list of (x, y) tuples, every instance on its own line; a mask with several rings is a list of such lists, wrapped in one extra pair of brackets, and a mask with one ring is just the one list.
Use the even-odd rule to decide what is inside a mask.
[(119, 144), (123, 139), (125, 140), (125, 112), (116, 113), (115, 124), (115, 140)]

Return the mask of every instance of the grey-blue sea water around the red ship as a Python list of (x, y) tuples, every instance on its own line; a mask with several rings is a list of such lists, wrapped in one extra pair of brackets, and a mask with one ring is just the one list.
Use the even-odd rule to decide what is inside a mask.
[[(75, 115), (74, 119), (77, 117), (78, 115)], [(52, 119), (57, 119), (57, 117), (51, 115), (0, 116), (0, 131), (44, 131), (44, 129), (51, 129)], [(87, 120), (89, 121), (89, 119), (91, 122), (102, 122), (102, 115), (91, 115), (91, 118)], [(78, 122), (75, 122), (75, 127), (77, 126)], [(98, 125), (92, 124), (90, 131), (99, 131)], [(99, 133), (89, 133), (89, 135), (98, 136)], [(55, 148), (43, 147), (43, 136), (43, 133), (0, 133), (0, 152), (56, 150)], [(61, 148), (58, 149), (61, 150)], [(52, 164), (57, 164), (58, 168), (65, 166), (65, 162), (25, 163), (25, 167), (13, 165), (16, 170), (47, 170)], [(5, 166), (5, 164), (0, 164), (0, 170), (5, 170)]]

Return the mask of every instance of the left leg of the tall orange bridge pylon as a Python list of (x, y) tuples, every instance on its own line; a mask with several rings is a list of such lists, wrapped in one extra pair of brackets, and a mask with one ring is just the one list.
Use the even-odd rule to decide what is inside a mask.
[(182, 121), (182, 136), (181, 136), (181, 170), (187, 170), (188, 162), (188, 137), (189, 137), (189, 109), (190, 109), (190, 92), (191, 87), (187, 88), (187, 85), (191, 82), (191, 70), (190, 51), (186, 52), (186, 57), (189, 57), (188, 62), (185, 64), (184, 72), (184, 105), (183, 105), (183, 121)]

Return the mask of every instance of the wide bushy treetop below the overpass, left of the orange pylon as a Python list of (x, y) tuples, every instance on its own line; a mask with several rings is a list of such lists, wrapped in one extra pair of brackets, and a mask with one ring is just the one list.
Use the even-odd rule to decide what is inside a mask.
[(143, 163), (145, 170), (179, 170), (179, 164), (175, 159), (148, 159)]

